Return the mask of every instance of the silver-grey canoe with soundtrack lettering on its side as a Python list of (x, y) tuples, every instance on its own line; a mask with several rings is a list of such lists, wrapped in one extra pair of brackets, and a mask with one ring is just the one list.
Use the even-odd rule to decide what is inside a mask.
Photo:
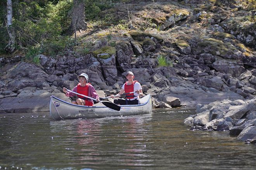
[(129, 116), (137, 114), (147, 114), (152, 112), (151, 95), (146, 95), (140, 99), (138, 105), (120, 105), (120, 111), (110, 109), (106, 106), (83, 106), (76, 105), (51, 96), (50, 116), (54, 120), (97, 118), (113, 116)]

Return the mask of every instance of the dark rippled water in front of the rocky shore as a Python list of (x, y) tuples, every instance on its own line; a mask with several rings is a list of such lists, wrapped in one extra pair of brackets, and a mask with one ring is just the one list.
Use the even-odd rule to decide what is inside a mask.
[(254, 170), (256, 145), (228, 132), (189, 131), (193, 109), (54, 121), (48, 112), (0, 114), (0, 169)]

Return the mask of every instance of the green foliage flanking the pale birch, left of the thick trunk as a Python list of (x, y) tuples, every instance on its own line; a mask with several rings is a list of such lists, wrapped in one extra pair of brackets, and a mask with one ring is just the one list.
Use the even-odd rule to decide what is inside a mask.
[[(52, 5), (50, 1), (45, 0), (26, 0), (19, 3), (12, 3), (12, 28), (15, 30), (16, 41), (19, 42), (19, 46), (17, 46), (18, 49), (30, 49), (30, 47), (44, 44), (45, 41), (56, 41), (56, 39), (59, 38), (62, 33), (61, 26), (64, 24), (54, 17), (57, 16), (57, 14), (60, 15), (60, 13), (57, 13), (59, 12), (57, 9), (61, 8), (59, 4), (63, 4), (63, 2), (69, 2), (66, 3), (69, 5), (72, 4), (71, 0), (63, 0), (53, 8), (54, 5)], [(66, 10), (66, 8), (67, 6), (64, 6), (61, 9)], [(0, 13), (3, 11), (3, 8), (0, 7)], [(54, 15), (54, 13), (51, 12), (57, 14)], [(67, 19), (67, 13), (65, 15)], [(0, 19), (2, 20), (0, 27), (0, 51), (2, 51), (9, 41), (9, 36), (5, 25), (3, 25), (4, 18), (0, 17)]]

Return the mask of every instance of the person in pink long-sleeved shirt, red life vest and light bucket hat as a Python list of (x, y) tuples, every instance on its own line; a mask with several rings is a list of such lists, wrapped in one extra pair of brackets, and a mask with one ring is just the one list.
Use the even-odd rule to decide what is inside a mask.
[[(89, 79), (88, 75), (86, 75), (85, 73), (82, 73), (81, 75), (79, 75), (78, 80), (80, 83), (78, 83), (78, 85), (76, 87), (74, 87), (72, 91), (86, 95), (88, 97), (92, 97), (92, 98), (96, 99), (97, 102), (99, 102), (100, 101), (99, 95), (95, 91), (95, 88), (90, 83), (88, 83), (88, 79)], [(63, 87), (62, 90), (67, 97), (73, 97), (76, 95), (75, 93), (67, 92), (67, 89), (65, 87)], [(72, 104), (87, 105), (87, 106), (93, 105), (92, 99), (88, 99), (81, 95), (76, 95), (76, 97), (78, 97), (78, 98), (76, 99), (76, 101), (72, 101), (71, 102)]]

